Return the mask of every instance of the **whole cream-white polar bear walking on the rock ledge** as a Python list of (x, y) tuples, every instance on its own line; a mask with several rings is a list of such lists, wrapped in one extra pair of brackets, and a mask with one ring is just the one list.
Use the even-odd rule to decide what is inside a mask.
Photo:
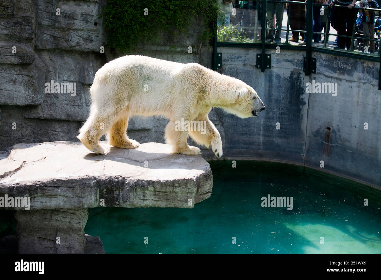
[[(105, 133), (112, 146), (137, 148), (139, 143), (126, 134), (128, 118), (161, 115), (170, 120), (165, 139), (173, 153), (200, 154), (198, 147), (188, 145), (191, 136), (221, 157), (221, 136), (208, 118), (211, 108), (219, 107), (241, 118), (256, 116), (265, 109), (256, 91), (241, 80), (197, 63), (136, 55), (122, 56), (101, 67), (90, 93), (90, 115), (77, 138), (97, 154), (104, 154), (98, 140)], [(189, 121), (196, 125), (189, 127)], [(197, 129), (199, 123), (204, 124), (202, 131)]]

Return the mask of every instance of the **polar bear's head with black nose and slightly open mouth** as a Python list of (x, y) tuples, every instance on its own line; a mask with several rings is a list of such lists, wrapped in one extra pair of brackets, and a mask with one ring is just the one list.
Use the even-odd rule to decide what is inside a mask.
[(256, 117), (258, 112), (265, 109), (256, 91), (242, 81), (232, 86), (232, 91), (228, 96), (230, 102), (223, 106), (223, 109), (240, 118)]

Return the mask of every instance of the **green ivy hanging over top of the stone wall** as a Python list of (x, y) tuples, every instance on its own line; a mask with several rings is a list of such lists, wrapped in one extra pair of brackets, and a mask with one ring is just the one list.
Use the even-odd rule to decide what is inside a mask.
[(107, 46), (129, 51), (139, 41), (158, 40), (159, 31), (172, 38), (187, 34), (195, 19), (206, 27), (196, 42), (208, 41), (220, 13), (217, 0), (109, 0), (103, 13)]

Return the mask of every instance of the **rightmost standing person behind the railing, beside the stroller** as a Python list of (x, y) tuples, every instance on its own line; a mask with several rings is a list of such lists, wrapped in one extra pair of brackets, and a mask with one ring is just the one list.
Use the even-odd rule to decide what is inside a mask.
[(362, 27), (364, 32), (363, 52), (366, 53), (366, 51), (369, 51), (369, 53), (375, 53), (375, 41), (369, 41), (369, 39), (374, 40), (375, 38), (375, 12), (369, 11), (369, 17), (367, 22), (367, 17), (365, 16), (365, 10), (367, 8), (378, 9), (379, 6), (375, 0), (362, 0), (360, 2), (360, 6), (362, 6), (364, 10), (361, 16)]

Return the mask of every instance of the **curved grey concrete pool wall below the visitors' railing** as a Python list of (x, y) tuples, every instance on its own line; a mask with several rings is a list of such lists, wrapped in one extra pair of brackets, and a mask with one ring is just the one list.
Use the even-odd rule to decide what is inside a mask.
[[(381, 189), (379, 63), (312, 53), (317, 73), (306, 76), (305, 52), (267, 50), (272, 61), (265, 72), (256, 68), (259, 49), (219, 47), (218, 52), (223, 57), (218, 72), (252, 86), (266, 106), (248, 119), (215, 110), (226, 157), (305, 165)], [(317, 83), (334, 83), (337, 92), (309, 93), (307, 83), (315, 89)]]

